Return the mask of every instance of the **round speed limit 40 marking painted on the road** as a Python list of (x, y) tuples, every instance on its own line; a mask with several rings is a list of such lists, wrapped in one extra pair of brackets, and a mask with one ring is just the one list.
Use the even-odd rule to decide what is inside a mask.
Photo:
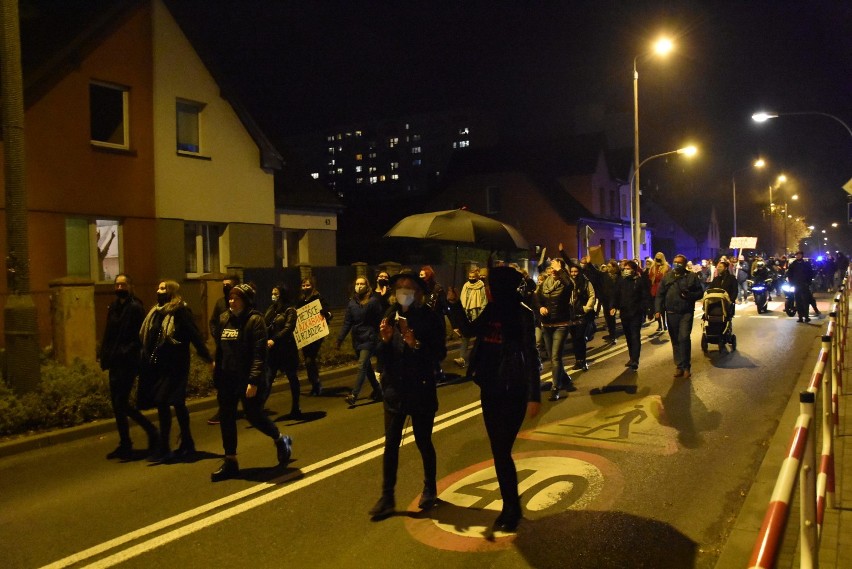
[[(621, 496), (618, 467), (596, 454), (549, 450), (513, 455), (518, 490), (527, 519), (566, 510), (607, 510)], [(515, 534), (490, 527), (503, 508), (494, 461), (474, 464), (438, 482), (440, 502), (428, 517), (407, 518), (406, 529), (425, 545), (445, 551), (487, 552), (506, 549)], [(414, 500), (409, 509), (416, 507)]]

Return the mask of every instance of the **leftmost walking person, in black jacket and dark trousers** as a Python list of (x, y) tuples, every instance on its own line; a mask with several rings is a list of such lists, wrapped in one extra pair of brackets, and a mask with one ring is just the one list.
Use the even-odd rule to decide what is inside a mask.
[(159, 433), (157, 428), (136, 407), (130, 405), (130, 392), (139, 375), (139, 328), (145, 319), (142, 302), (133, 295), (130, 277), (119, 274), (115, 277), (115, 301), (107, 309), (107, 322), (101, 340), (99, 360), (101, 369), (109, 370), (109, 394), (115, 426), (118, 429), (118, 447), (107, 458), (130, 460), (133, 458), (133, 442), (130, 439), (130, 417), (148, 435), (148, 453), (157, 450)]

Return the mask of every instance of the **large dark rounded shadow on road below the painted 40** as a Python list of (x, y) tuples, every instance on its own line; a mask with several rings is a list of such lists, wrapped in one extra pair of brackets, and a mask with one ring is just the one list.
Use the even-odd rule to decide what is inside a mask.
[(686, 569), (695, 566), (698, 549), (664, 522), (574, 510), (524, 520), (515, 548), (537, 569)]

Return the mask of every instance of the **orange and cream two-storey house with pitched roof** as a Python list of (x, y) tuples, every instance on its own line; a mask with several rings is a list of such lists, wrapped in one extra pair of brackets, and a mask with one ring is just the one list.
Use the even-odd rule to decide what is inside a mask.
[(282, 157), (163, 0), (35, 0), (21, 44), (42, 345), (57, 279), (95, 283), (102, 326), (118, 273), (150, 305), (162, 279), (273, 266)]

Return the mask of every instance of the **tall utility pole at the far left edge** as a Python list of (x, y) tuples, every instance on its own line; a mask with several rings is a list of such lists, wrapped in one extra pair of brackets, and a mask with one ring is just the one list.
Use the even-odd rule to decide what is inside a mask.
[(0, 107), (6, 190), (6, 383), (18, 393), (41, 380), (38, 320), (30, 295), (27, 187), (24, 159), (24, 88), (18, 0), (0, 0)]

